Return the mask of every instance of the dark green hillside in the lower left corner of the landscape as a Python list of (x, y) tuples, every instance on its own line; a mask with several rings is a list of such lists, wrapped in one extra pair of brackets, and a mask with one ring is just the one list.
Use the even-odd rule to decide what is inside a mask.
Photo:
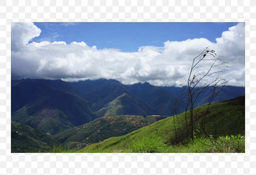
[(59, 144), (52, 136), (27, 125), (11, 121), (11, 152), (38, 152)]

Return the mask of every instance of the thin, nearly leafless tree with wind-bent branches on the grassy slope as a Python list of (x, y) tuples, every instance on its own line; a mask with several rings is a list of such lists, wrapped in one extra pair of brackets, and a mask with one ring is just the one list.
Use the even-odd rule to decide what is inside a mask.
[[(204, 48), (203, 52), (200, 53), (193, 59), (190, 73), (187, 79), (187, 87), (180, 92), (178, 97), (175, 100), (175, 104), (172, 108), (173, 121), (175, 127), (176, 141), (177, 140), (177, 130), (182, 132), (180, 128), (179, 120), (177, 114), (179, 113), (179, 108), (185, 104), (185, 122), (186, 122), (186, 136), (188, 140), (194, 139), (194, 133), (197, 128), (195, 128), (196, 122), (199, 118), (203, 117), (203, 120), (200, 120), (200, 126), (205, 132), (205, 117), (209, 112), (209, 105), (212, 102), (212, 99), (216, 97), (219, 92), (223, 89), (224, 85), (228, 84), (220, 74), (227, 71), (226, 66), (227, 62), (222, 62), (221, 57), (215, 53), (214, 50), (209, 48)], [(203, 113), (199, 113), (199, 108), (196, 108), (195, 102), (198, 99), (199, 95), (202, 92), (209, 94), (207, 109)], [(176, 125), (175, 125), (176, 117)], [(210, 136), (205, 132), (207, 136)]]

